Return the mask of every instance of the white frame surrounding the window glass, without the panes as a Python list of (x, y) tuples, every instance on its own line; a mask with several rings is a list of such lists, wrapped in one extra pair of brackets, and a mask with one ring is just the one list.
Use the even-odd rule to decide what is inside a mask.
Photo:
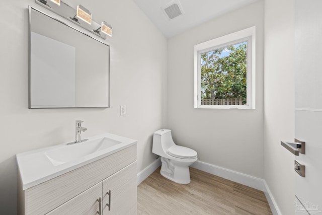
[[(246, 105), (201, 105), (201, 54), (247, 41), (247, 104)], [(222, 37), (218, 37), (195, 45), (194, 82), (195, 108), (208, 109), (255, 109), (256, 89), (256, 26), (240, 30)]]

